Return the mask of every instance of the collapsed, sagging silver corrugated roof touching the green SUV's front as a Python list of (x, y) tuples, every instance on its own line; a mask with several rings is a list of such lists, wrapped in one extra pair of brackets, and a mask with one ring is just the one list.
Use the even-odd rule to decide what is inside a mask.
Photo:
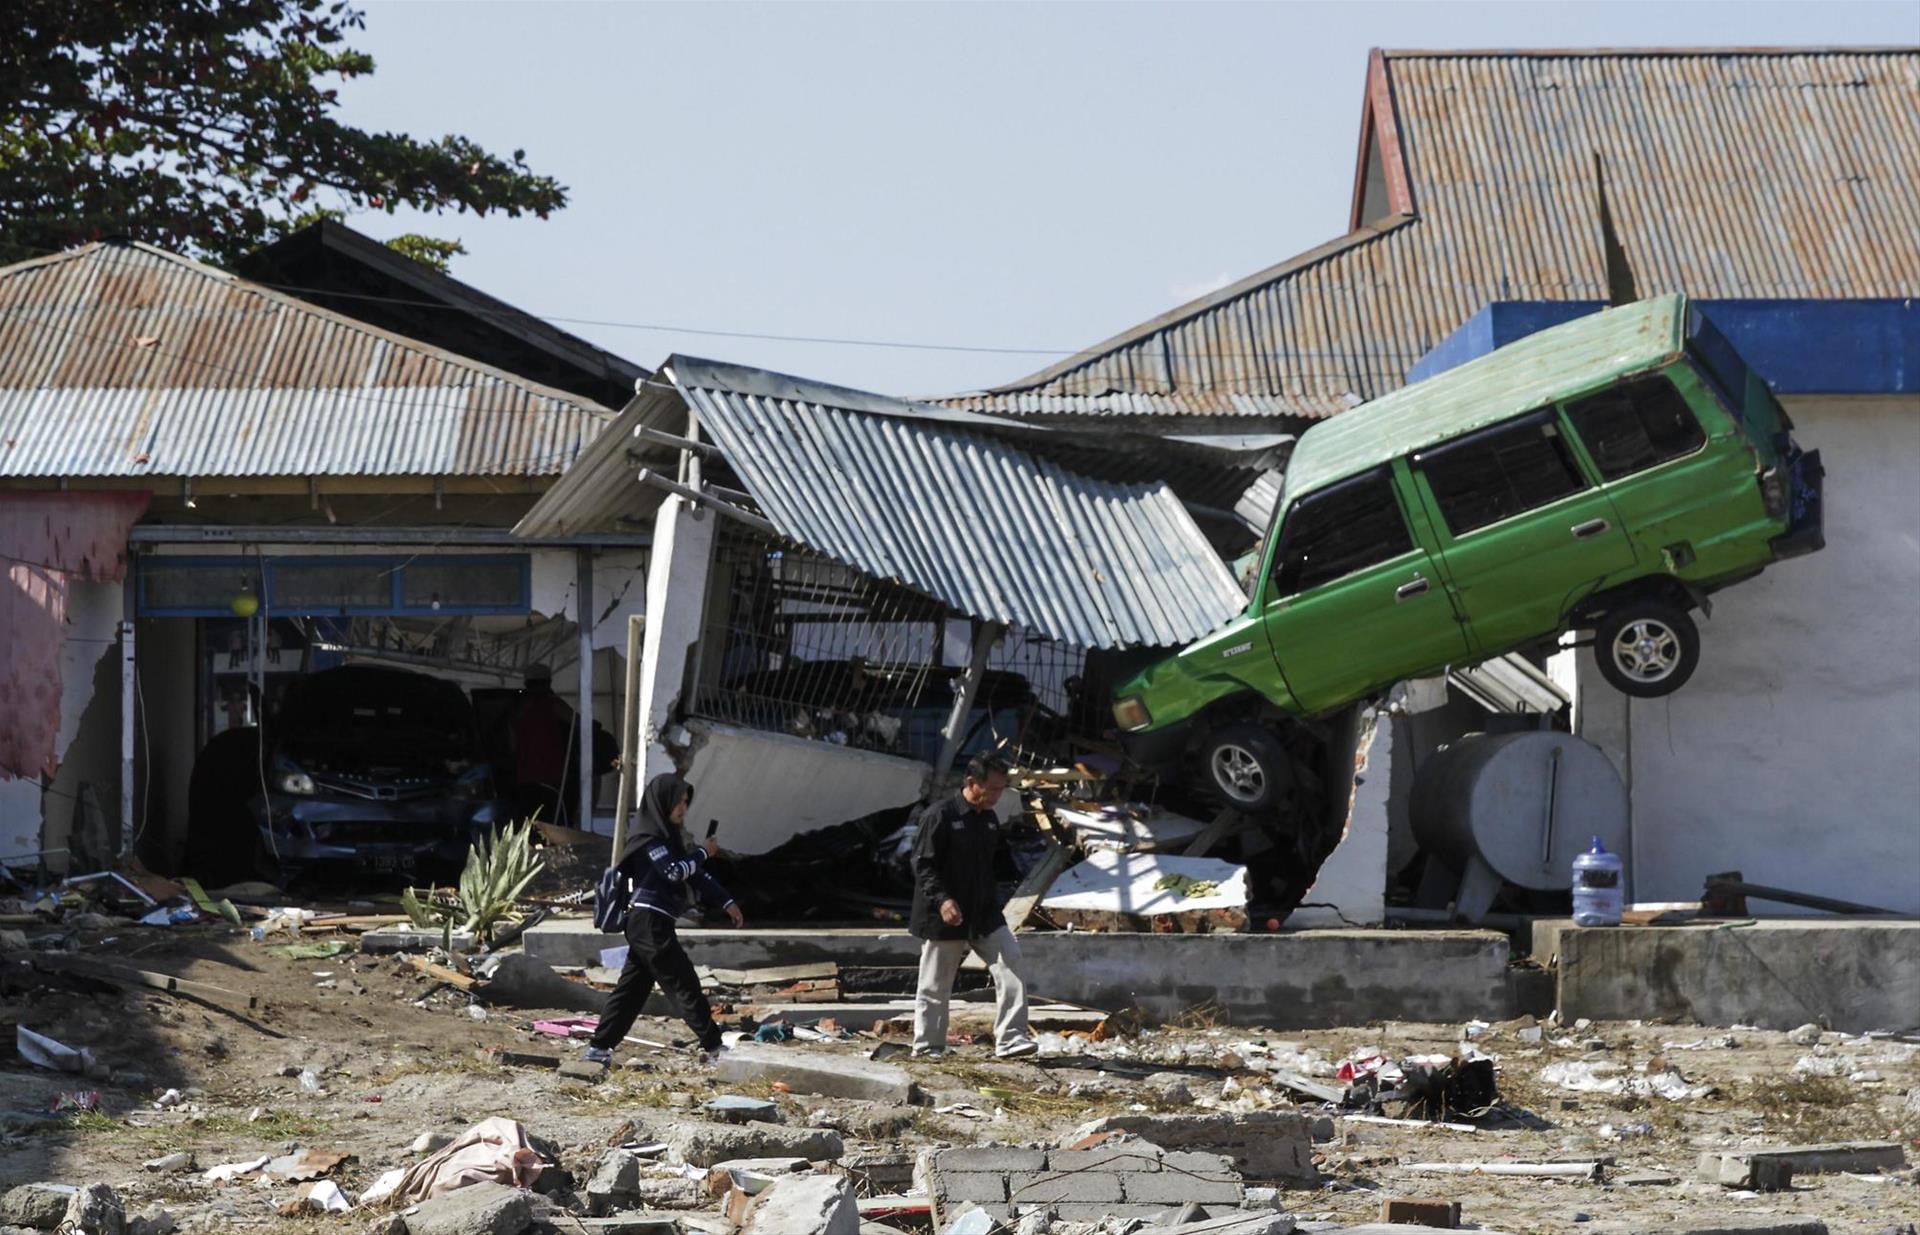
[(950, 415), (780, 375), (666, 373), (774, 526), (960, 613), (1169, 647), (1246, 607), (1164, 482), (1094, 480)]

